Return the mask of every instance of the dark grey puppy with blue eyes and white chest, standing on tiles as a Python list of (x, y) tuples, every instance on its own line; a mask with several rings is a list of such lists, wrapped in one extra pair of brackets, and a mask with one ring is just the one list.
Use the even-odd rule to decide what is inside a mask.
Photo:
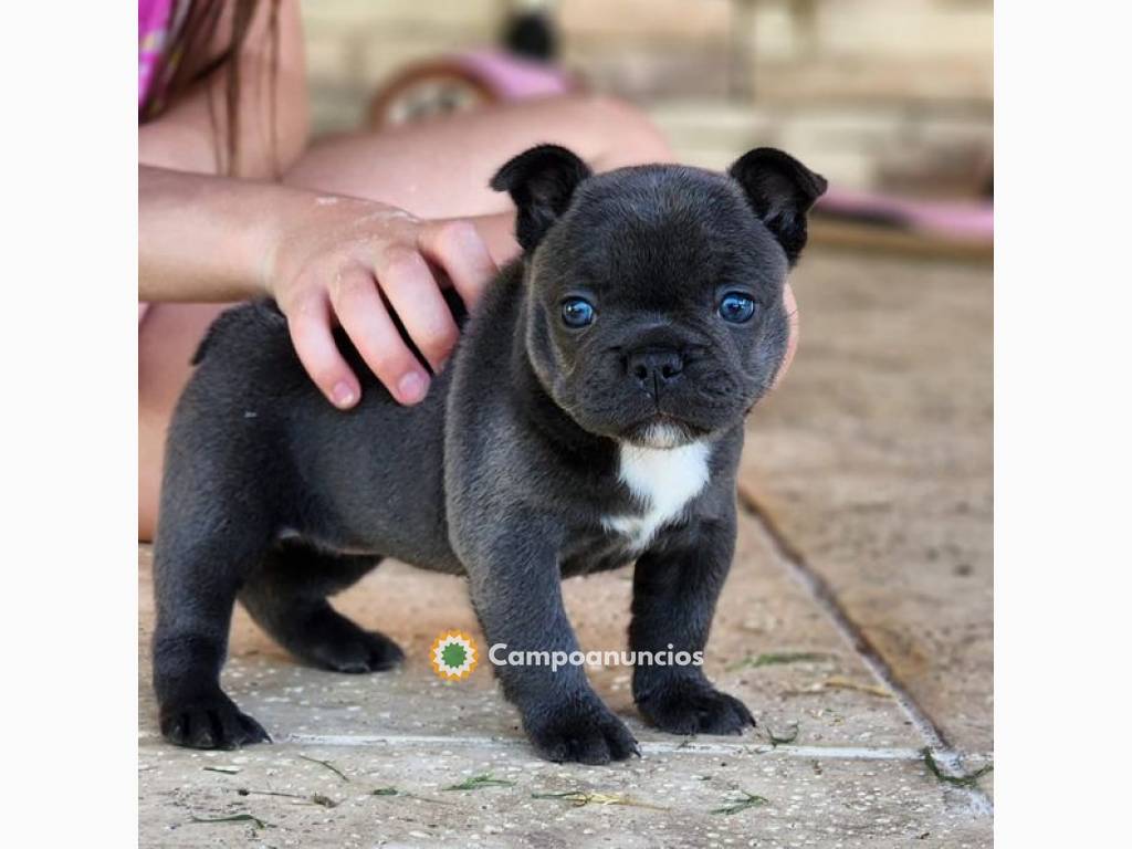
[[(574, 652), (560, 581), (635, 560), (634, 651), (702, 651), (735, 548), (743, 421), (786, 353), (782, 289), (825, 181), (779, 151), (718, 174), (592, 175), (535, 147), (511, 192), (523, 256), (488, 288), (428, 397), (398, 406), (344, 337), (361, 403), (332, 408), (273, 303), (221, 316), (169, 434), (156, 541), (161, 730), (267, 739), (221, 691), (239, 598), (284, 648), (345, 672), (402, 659), (327, 603), (381, 557), (466, 575), (489, 644)], [(538, 752), (636, 752), (583, 668), (497, 668)], [(641, 713), (738, 734), (698, 666), (638, 664)]]

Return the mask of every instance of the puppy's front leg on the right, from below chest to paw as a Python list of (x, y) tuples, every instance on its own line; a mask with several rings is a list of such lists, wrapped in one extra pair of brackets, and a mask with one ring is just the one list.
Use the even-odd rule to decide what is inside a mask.
[[(735, 533), (734, 513), (695, 522), (637, 559), (629, 625), (633, 651), (667, 660), (668, 652), (704, 650), (735, 554)], [(755, 724), (746, 705), (715, 689), (698, 666), (644, 664), (638, 655), (633, 697), (645, 719), (672, 734), (741, 734)]]

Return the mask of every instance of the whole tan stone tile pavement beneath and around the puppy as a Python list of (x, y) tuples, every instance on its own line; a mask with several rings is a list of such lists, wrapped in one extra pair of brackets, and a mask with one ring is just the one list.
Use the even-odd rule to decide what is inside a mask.
[[(993, 773), (955, 778), (993, 747), (989, 268), (817, 247), (795, 285), (803, 345), (751, 420), (706, 658), (757, 729), (654, 732), (604, 669), (643, 757), (539, 761), (488, 670), (429, 669), (443, 631), (481, 640), (463, 583), (384, 564), (340, 607), (403, 669), (300, 667), (240, 610), (225, 687), (275, 743), (177, 749), (155, 728), (143, 546), (142, 844), (989, 846)], [(629, 590), (627, 569), (567, 582), (583, 649), (624, 646)]]

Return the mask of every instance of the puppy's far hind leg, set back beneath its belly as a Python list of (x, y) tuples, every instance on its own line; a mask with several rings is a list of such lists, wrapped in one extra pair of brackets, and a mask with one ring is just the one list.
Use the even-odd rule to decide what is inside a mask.
[(281, 543), (248, 577), (240, 601), (264, 631), (306, 663), (336, 672), (389, 669), (404, 660), (401, 648), (381, 633), (362, 629), (326, 600), (379, 560)]

